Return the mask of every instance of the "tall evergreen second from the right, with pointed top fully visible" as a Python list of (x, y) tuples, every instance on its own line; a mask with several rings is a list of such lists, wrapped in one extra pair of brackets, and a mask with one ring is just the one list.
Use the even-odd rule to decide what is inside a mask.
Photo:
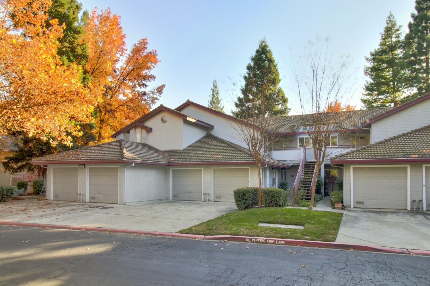
[(369, 66), (365, 66), (364, 74), (370, 78), (361, 99), (365, 108), (397, 106), (405, 96), (408, 72), (403, 60), (402, 26), (391, 12), (385, 22), (379, 47), (365, 57)]

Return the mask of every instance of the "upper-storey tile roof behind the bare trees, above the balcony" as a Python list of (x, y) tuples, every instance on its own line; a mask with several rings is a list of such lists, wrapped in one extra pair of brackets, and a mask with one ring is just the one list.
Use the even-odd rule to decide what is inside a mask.
[[(356, 129), (361, 128), (361, 123), (375, 115), (388, 111), (391, 108), (372, 108), (353, 111), (340, 111), (343, 113), (342, 122), (339, 123), (338, 129)], [(286, 115), (267, 117), (270, 120), (269, 129), (276, 133), (296, 132), (298, 126), (303, 126), (304, 121), (312, 121), (312, 114), (303, 115)]]

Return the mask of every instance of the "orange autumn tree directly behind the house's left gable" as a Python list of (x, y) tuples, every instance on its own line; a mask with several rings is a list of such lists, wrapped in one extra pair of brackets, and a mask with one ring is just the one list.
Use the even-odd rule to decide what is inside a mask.
[(83, 41), (89, 52), (85, 66), (89, 88), (102, 96), (94, 112), (99, 142), (147, 113), (163, 93), (164, 85), (148, 90), (155, 80), (151, 70), (159, 62), (157, 51), (148, 51), (144, 38), (126, 54), (125, 38), (120, 16), (110, 9), (92, 11)]

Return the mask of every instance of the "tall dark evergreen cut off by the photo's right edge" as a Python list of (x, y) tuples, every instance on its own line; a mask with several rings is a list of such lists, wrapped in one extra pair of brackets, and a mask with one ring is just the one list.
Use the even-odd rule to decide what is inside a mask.
[(430, 91), (430, 1), (415, 0), (415, 10), (405, 35), (405, 59), (411, 72), (409, 85), (419, 96)]

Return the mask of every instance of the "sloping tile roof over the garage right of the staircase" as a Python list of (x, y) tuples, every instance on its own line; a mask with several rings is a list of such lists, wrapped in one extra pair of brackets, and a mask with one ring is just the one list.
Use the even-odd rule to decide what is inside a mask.
[(330, 160), (430, 159), (430, 125), (339, 154)]

